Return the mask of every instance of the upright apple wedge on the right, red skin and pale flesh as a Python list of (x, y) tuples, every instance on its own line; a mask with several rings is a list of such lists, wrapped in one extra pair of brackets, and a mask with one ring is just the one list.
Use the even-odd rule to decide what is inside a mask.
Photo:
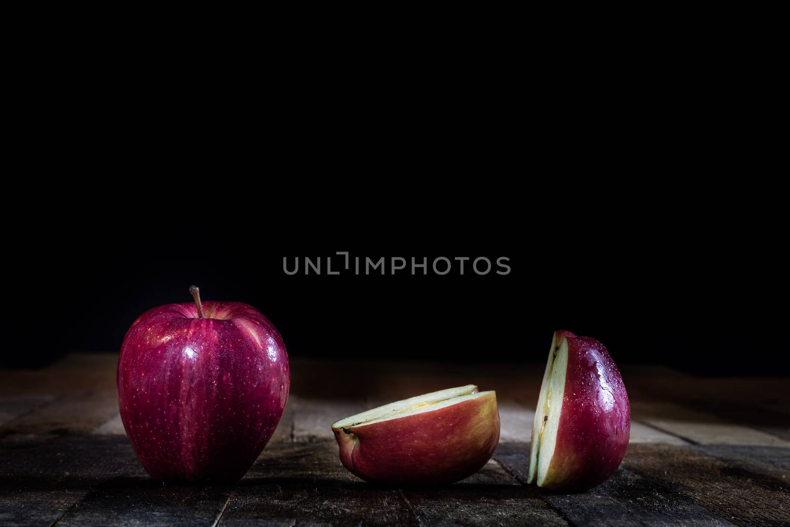
[(556, 332), (532, 424), (527, 483), (595, 487), (623, 461), (630, 428), (628, 393), (604, 344)]

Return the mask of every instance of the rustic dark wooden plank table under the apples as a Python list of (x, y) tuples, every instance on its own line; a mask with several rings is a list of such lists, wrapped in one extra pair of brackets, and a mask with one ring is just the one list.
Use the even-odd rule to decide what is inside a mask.
[[(115, 354), (0, 371), (0, 525), (790, 525), (788, 378), (624, 367), (623, 465), (581, 494), (525, 484), (542, 364), (292, 360), (275, 436), (233, 487), (164, 486), (124, 435)], [(329, 424), (474, 382), (497, 390), (502, 440), (448, 487), (382, 488), (347, 472)]]

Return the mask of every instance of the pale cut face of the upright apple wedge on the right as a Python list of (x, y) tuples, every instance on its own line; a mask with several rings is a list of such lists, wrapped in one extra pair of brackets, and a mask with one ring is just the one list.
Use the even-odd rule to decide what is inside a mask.
[(529, 446), (527, 483), (537, 482), (538, 487), (543, 485), (551, 457), (554, 455), (567, 368), (568, 339), (562, 337), (558, 342), (555, 333), (548, 352), (543, 382), (540, 384), (540, 396), (538, 396), (535, 420), (532, 423), (532, 441)]

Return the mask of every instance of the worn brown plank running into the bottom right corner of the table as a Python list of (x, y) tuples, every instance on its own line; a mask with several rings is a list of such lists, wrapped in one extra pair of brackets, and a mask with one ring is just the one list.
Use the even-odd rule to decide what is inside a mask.
[[(629, 446), (623, 468), (663, 480), (738, 525), (790, 524), (787, 480), (672, 445)], [(752, 470), (754, 469), (754, 470)]]

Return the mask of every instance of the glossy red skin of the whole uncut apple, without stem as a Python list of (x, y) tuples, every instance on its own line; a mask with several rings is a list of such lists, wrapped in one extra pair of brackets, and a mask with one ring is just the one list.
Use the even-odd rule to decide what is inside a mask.
[(121, 346), (126, 435), (160, 481), (241, 479), (274, 433), (291, 384), (280, 333), (238, 302), (167, 304), (141, 314)]

